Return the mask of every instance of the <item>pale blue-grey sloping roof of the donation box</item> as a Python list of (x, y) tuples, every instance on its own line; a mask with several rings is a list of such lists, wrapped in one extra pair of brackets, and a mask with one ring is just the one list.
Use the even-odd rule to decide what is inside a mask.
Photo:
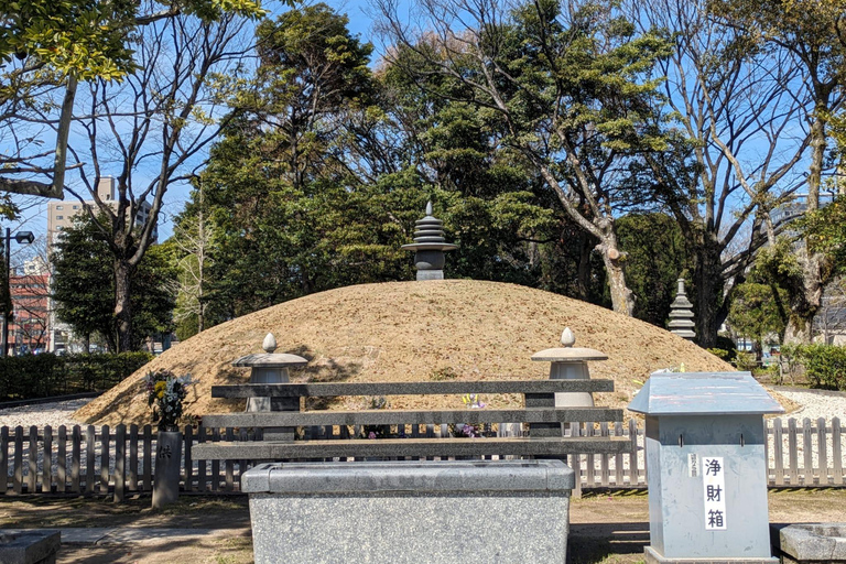
[(749, 372), (655, 372), (629, 411), (648, 415), (784, 413)]

